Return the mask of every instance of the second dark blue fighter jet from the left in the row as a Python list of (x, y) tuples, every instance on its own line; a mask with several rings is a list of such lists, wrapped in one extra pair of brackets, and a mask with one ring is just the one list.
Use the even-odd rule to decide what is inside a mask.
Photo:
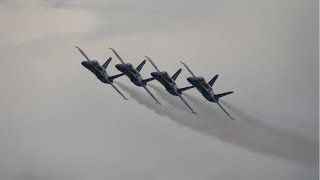
[(139, 87), (143, 87), (151, 96), (152, 98), (160, 104), (160, 102), (157, 100), (157, 98), (150, 92), (150, 90), (147, 88), (147, 82), (154, 80), (154, 78), (149, 79), (142, 79), (140, 75), (140, 71), (144, 64), (146, 63), (146, 60), (143, 60), (142, 63), (137, 67), (134, 68), (132, 64), (125, 63), (123, 59), (120, 57), (120, 55), (117, 53), (116, 50), (109, 48), (113, 51), (113, 53), (118, 57), (118, 59), (121, 61), (122, 64), (116, 64), (116, 68), (121, 71), (123, 74), (125, 74), (133, 84)]

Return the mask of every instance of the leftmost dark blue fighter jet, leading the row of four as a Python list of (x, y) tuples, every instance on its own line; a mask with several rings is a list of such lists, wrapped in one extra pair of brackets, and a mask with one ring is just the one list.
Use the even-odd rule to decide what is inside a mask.
[(105, 83), (105, 84), (110, 84), (122, 97), (123, 99), (125, 100), (128, 100), (121, 92), (120, 90), (113, 84), (113, 80), (120, 77), (120, 76), (123, 76), (124, 74), (121, 73), (121, 74), (117, 74), (117, 75), (114, 75), (114, 76), (109, 76), (107, 71), (106, 71), (106, 68), (107, 66), (109, 65), (109, 63), (111, 62), (111, 57), (101, 66), (99, 64), (99, 62), (97, 60), (90, 60), (88, 58), (88, 56), (83, 52), (82, 49), (80, 49), (79, 47), (75, 46), (79, 51), (80, 53), (87, 59), (86, 61), (82, 61), (81, 64), (87, 68), (88, 70), (90, 70), (94, 75), (97, 76), (97, 78)]

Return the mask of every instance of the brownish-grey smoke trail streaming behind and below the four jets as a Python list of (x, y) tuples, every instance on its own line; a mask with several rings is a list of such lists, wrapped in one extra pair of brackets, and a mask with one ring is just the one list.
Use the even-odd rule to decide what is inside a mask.
[[(208, 103), (204, 99), (185, 95), (198, 113), (193, 115), (179, 98), (171, 96), (157, 86), (151, 85), (162, 98), (162, 105), (145, 98), (144, 93), (125, 84), (118, 83), (118, 85), (141, 105), (160, 116), (170, 118), (179, 125), (263, 155), (281, 157), (305, 165), (318, 164), (317, 143), (267, 125), (226, 102), (223, 102), (224, 105), (237, 115), (235, 121), (227, 118), (215, 104)], [(168, 104), (164, 104), (163, 101)]]

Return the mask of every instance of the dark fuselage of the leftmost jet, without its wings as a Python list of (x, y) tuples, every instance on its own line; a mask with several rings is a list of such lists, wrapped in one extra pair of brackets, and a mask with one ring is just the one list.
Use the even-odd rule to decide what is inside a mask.
[(105, 83), (105, 84), (110, 84), (113, 82), (112, 78), (108, 77), (108, 74), (105, 69), (98, 63), (98, 61), (82, 61), (81, 64), (90, 70), (94, 75), (97, 76), (97, 78)]

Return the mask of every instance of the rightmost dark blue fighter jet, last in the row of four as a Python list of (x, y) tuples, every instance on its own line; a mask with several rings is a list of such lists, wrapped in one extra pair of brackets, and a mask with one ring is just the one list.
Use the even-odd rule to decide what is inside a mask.
[[(181, 61), (180, 61), (181, 62)], [(228, 94), (233, 93), (233, 91), (229, 91), (229, 92), (225, 92), (225, 93), (221, 93), (221, 94), (215, 94), (212, 90), (212, 85), (214, 84), (214, 82), (217, 80), (218, 78), (218, 74), (215, 75), (210, 81), (209, 83), (207, 83), (205, 81), (205, 79), (203, 77), (196, 77), (193, 72), (191, 71), (191, 69), (183, 62), (181, 62), (186, 68), (187, 70), (191, 73), (192, 77), (188, 77), (187, 80), (189, 81), (190, 84), (192, 84), (193, 86), (195, 86), (197, 88), (197, 90), (203, 95), (203, 97), (205, 97), (208, 101), (210, 102), (214, 102), (217, 103), (219, 105), (219, 107), (228, 115), (228, 117), (232, 120), (234, 120), (231, 115), (221, 106), (219, 99), (223, 96), (226, 96)]]

